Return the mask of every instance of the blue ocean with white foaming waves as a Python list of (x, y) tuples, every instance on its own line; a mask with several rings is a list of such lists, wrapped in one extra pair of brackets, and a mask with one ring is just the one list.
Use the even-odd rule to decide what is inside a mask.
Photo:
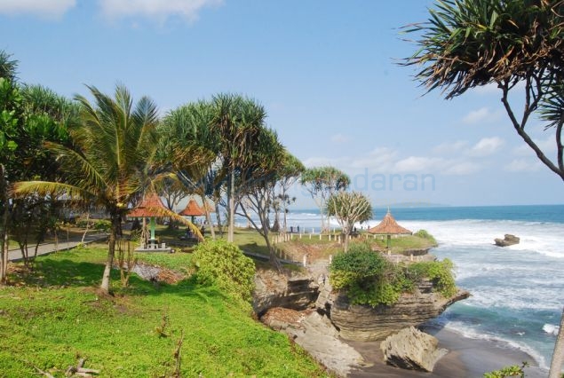
[[(384, 217), (358, 224), (366, 229)], [(391, 209), (399, 224), (425, 229), (439, 242), (431, 253), (456, 265), (457, 285), (472, 293), (433, 320), (466, 337), (528, 352), (548, 368), (564, 306), (564, 205)], [(332, 225), (338, 226), (336, 222)], [(292, 211), (288, 226), (319, 231), (319, 212)], [(520, 244), (499, 248), (505, 233)]]

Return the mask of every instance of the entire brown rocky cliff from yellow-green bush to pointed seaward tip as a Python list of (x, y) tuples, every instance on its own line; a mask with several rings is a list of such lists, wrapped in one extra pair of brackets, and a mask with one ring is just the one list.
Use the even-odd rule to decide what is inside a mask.
[(459, 290), (457, 295), (444, 298), (433, 292), (433, 283), (425, 280), (412, 294), (401, 295), (392, 306), (354, 305), (343, 293), (334, 292), (326, 272), (277, 274), (258, 272), (254, 295), (254, 310), (261, 316), (268, 309), (282, 307), (292, 310), (313, 308), (327, 316), (347, 340), (374, 341), (434, 319), (452, 303), (470, 294)]

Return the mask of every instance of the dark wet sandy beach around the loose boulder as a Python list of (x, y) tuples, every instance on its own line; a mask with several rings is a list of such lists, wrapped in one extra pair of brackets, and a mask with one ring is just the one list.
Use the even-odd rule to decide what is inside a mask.
[(441, 348), (449, 353), (441, 358), (434, 367), (433, 373), (417, 372), (400, 369), (384, 364), (380, 342), (346, 342), (358, 350), (373, 366), (367, 366), (354, 371), (350, 377), (437, 377), (463, 378), (483, 377), (483, 374), (497, 370), (503, 366), (520, 365), (528, 361), (526, 368), (528, 378), (542, 378), (548, 374), (536, 366), (534, 358), (527, 353), (514, 349), (503, 343), (465, 338), (455, 332), (436, 328), (426, 328), (425, 332), (439, 339)]

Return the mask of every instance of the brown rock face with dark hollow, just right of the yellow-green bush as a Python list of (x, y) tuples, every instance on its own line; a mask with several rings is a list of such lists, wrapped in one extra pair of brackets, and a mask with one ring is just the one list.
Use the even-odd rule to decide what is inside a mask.
[(274, 307), (305, 310), (313, 307), (319, 285), (307, 274), (263, 270), (255, 275), (253, 310), (260, 316)]

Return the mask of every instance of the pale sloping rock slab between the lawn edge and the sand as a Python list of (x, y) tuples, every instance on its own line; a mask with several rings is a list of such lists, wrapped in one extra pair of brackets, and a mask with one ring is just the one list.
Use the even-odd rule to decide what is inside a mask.
[(361, 354), (338, 338), (338, 331), (318, 312), (274, 308), (261, 319), (267, 326), (289, 335), (295, 343), (326, 366), (332, 373), (345, 377), (354, 368), (366, 366)]

